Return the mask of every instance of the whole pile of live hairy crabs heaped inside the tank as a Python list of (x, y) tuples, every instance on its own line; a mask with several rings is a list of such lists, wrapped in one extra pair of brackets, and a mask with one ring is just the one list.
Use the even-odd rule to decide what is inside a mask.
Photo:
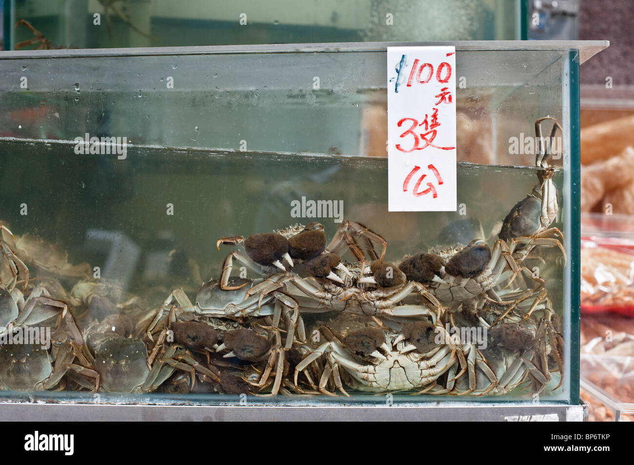
[[(557, 390), (561, 312), (527, 266), (542, 248), (565, 258), (564, 236), (552, 227), (559, 207), (547, 159), (536, 157), (538, 183), (490, 246), (475, 238), (395, 263), (385, 260), (387, 241), (358, 222), (342, 222), (330, 242), (318, 222), (297, 224), (218, 239), (217, 248), (235, 246), (220, 276), (195, 298), (177, 288), (158, 303), (96, 283), (87, 265), (69, 265), (53, 246), (0, 226), (0, 389)], [(66, 283), (74, 283), (68, 292)], [(53, 328), (48, 344), (6, 343), (34, 328)]]

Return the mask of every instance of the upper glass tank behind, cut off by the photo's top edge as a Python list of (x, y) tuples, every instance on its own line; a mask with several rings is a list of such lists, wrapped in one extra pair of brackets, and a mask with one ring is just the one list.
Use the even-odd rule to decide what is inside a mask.
[[(527, 39), (527, 0), (5, 0), (5, 49)], [(11, 8), (13, 6), (13, 8)], [(29, 42), (32, 41), (32, 42)]]

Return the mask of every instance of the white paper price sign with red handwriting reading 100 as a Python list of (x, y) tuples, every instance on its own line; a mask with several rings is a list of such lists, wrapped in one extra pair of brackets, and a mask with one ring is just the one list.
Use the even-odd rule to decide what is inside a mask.
[(456, 49), (387, 48), (390, 212), (456, 211)]

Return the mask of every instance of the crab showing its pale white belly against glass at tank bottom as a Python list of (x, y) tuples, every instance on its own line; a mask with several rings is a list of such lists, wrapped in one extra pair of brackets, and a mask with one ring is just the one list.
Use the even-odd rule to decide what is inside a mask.
[[(467, 366), (463, 359), (462, 348), (454, 343), (442, 326), (436, 325), (436, 314), (427, 312), (427, 319), (412, 321), (402, 331), (385, 331), (382, 328), (364, 328), (351, 331), (342, 340), (336, 338), (330, 329), (320, 327), (327, 342), (315, 348), (295, 367), (295, 388), (299, 374), (311, 363), (325, 357), (318, 385), (313, 385), (327, 395), (335, 395), (327, 390), (332, 377), (335, 388), (348, 395), (340, 368), (349, 376), (349, 384), (359, 391), (411, 391), (429, 390), (439, 376), (446, 373), (456, 363)], [(437, 337), (441, 343), (437, 343)], [(448, 341), (449, 343), (444, 343)], [(461, 376), (463, 372), (457, 376)], [(309, 378), (310, 382), (310, 378)]]

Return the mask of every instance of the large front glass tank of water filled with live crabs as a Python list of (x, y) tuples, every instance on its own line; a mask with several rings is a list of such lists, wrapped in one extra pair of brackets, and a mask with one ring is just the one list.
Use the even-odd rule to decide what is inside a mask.
[(388, 44), (1, 54), (1, 395), (578, 404), (606, 43), (447, 43), (456, 212), (387, 210)]

